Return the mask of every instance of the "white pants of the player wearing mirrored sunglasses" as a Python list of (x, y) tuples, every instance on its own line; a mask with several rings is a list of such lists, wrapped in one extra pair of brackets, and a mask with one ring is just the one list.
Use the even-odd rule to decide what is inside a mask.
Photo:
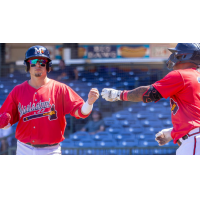
[(61, 155), (61, 146), (35, 148), (18, 140), (16, 155)]

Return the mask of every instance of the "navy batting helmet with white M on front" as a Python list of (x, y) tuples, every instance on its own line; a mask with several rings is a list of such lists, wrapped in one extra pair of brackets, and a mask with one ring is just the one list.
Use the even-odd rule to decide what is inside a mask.
[(40, 45), (36, 45), (36, 46), (32, 46), (30, 47), (26, 54), (25, 54), (25, 60), (24, 60), (24, 65), (27, 66), (27, 60), (30, 58), (47, 58), (49, 60), (49, 67), (51, 67), (52, 62), (50, 59), (50, 53), (48, 51), (48, 49), (46, 47), (40, 46)]

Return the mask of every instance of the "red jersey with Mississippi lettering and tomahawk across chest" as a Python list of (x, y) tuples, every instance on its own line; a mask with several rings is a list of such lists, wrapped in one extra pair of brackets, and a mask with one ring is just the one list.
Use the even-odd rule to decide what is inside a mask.
[(19, 141), (55, 144), (65, 139), (65, 115), (76, 117), (75, 111), (83, 104), (84, 100), (65, 84), (50, 80), (35, 89), (26, 81), (11, 91), (0, 113), (11, 115), (11, 125), (18, 122), (16, 138)]

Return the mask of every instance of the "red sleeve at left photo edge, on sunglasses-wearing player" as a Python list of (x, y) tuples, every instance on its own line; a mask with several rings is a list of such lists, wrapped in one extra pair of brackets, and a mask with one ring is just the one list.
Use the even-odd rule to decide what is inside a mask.
[(14, 88), (4, 101), (0, 108), (0, 113), (9, 113), (11, 116), (10, 124), (13, 125), (19, 121), (18, 107), (16, 102), (16, 89)]

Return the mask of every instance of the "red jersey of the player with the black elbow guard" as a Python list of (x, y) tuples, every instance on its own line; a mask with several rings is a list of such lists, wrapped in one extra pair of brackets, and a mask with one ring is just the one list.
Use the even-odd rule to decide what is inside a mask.
[(170, 97), (174, 143), (200, 127), (200, 73), (196, 69), (172, 71), (153, 87), (165, 99)]

